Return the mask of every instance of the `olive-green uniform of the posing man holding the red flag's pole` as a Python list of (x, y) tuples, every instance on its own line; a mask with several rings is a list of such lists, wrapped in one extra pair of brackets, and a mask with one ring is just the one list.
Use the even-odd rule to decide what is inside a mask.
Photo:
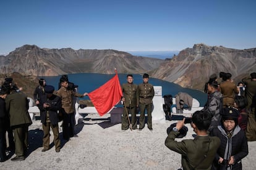
[(137, 118), (136, 118), (136, 108), (139, 105), (138, 95), (137, 95), (137, 85), (136, 84), (122, 84), (122, 94), (125, 99), (124, 101), (124, 111), (122, 113), (122, 130), (129, 128), (129, 121), (126, 111), (132, 115), (132, 129), (137, 129)]

